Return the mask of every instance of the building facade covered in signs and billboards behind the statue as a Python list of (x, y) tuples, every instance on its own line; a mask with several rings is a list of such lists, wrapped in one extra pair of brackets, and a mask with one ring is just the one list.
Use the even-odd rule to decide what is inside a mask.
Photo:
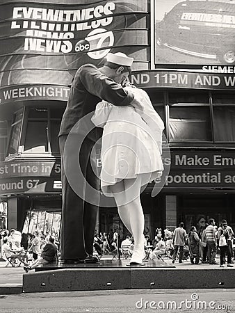
[[(149, 94), (170, 147), (163, 189), (141, 194), (145, 233), (211, 217), (235, 226), (235, 4), (167, 2), (0, 1), (1, 227), (59, 237), (60, 120), (77, 68), (110, 51), (134, 58), (130, 81)], [(117, 209), (100, 207), (97, 231), (115, 230), (126, 234)]]

